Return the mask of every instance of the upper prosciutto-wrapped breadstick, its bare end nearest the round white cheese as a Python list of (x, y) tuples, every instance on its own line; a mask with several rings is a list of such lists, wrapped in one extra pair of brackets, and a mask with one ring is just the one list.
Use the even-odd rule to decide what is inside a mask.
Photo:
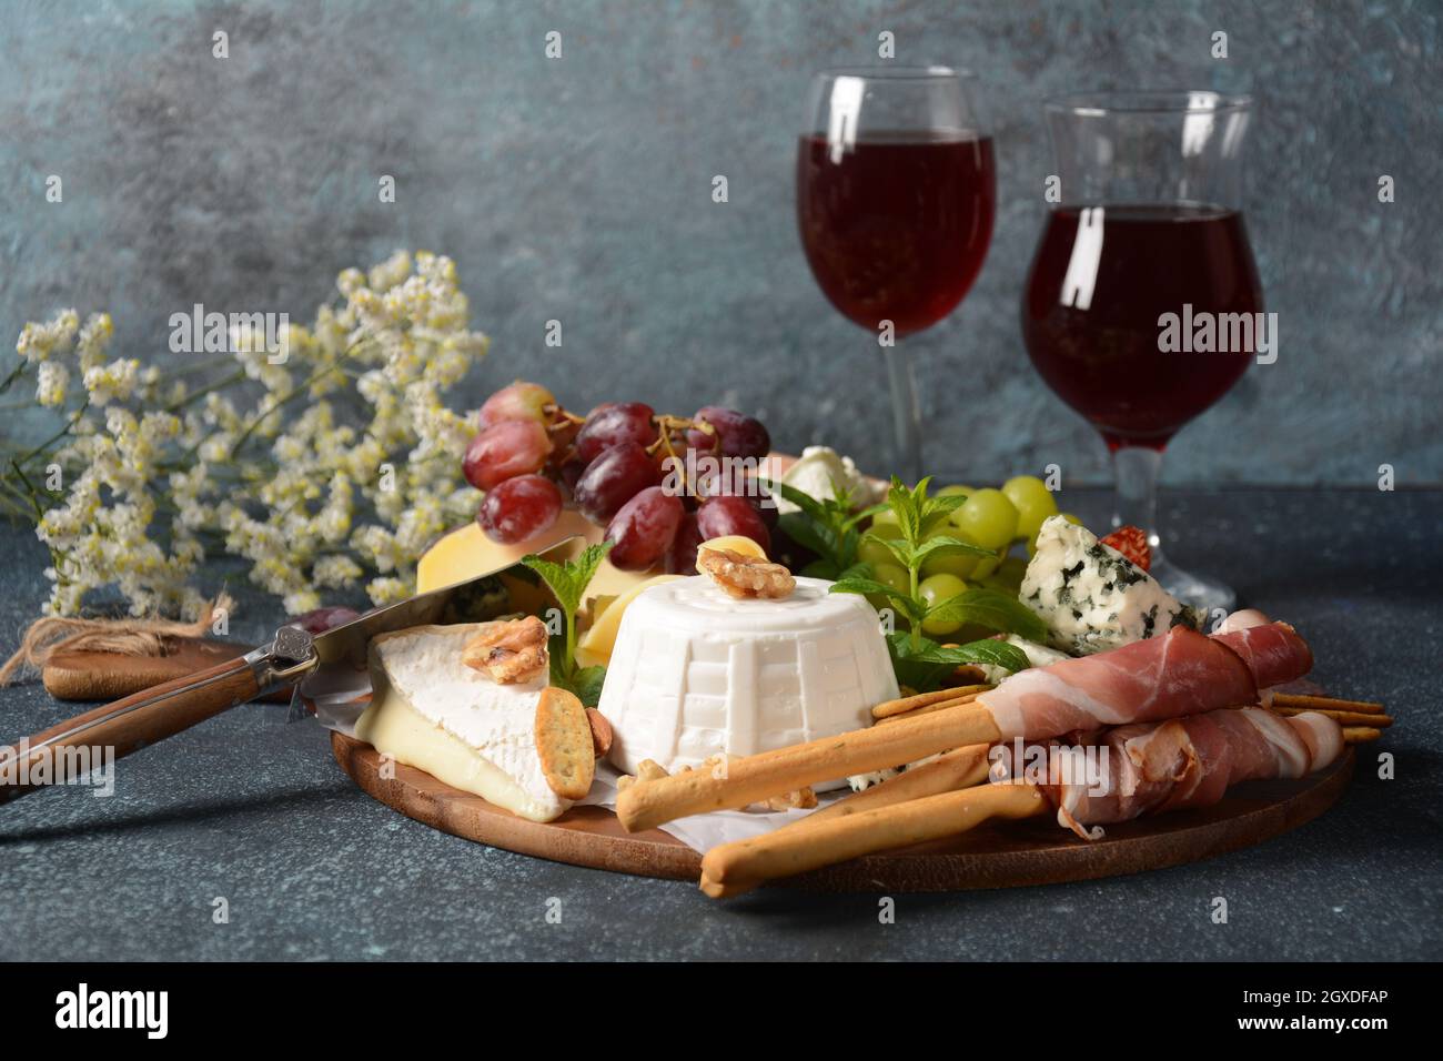
[(724, 777), (690, 771), (638, 781), (618, 797), (616, 817), (639, 831), (962, 745), (1046, 741), (1251, 704), (1260, 684), (1253, 667), (1268, 684), (1312, 667), (1312, 652), (1287, 624), (1244, 634), (1247, 641), (1234, 647), (1176, 626), (1166, 637), (1022, 671), (970, 704), (733, 759)]

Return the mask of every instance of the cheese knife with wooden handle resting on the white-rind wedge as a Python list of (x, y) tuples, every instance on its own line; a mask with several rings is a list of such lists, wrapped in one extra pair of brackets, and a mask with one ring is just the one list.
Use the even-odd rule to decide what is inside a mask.
[[(560, 563), (574, 559), (582, 546), (580, 536), (571, 536), (540, 556)], [(525, 586), (540, 595), (538, 601), (548, 599), (545, 583), (518, 562), (367, 612), (323, 634), (281, 626), (268, 644), (253, 652), (94, 707), (0, 746), (0, 803), (36, 788), (78, 780), (101, 762), (98, 755), (124, 758), (283, 686), (297, 687), (291, 700), (293, 715), (302, 703), (302, 681), (325, 683), (330, 677), (354, 689), (361, 680), (368, 690), (367, 648), (377, 634), (427, 624), (495, 619), (517, 611), (517, 596), (525, 595), (521, 592)]]

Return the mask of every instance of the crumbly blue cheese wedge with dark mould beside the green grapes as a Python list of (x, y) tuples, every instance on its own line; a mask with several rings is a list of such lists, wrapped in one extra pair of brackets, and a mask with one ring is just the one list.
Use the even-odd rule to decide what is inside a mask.
[(1048, 644), (1072, 655), (1121, 648), (1203, 616), (1085, 527), (1053, 515), (1038, 533), (1017, 599), (1048, 624)]

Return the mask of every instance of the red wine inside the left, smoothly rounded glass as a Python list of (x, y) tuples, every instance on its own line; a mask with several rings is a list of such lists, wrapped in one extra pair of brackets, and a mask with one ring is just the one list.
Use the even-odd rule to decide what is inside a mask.
[(834, 152), (804, 136), (797, 221), (812, 274), (844, 316), (898, 338), (931, 328), (981, 271), (996, 214), (991, 137), (889, 130)]

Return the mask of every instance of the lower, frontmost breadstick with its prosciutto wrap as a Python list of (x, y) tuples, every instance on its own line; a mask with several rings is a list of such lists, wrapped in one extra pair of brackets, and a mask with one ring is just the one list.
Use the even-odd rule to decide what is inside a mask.
[(1042, 784), (997, 780), (720, 844), (701, 860), (701, 891), (713, 898), (739, 895), (781, 876), (958, 836), (999, 817), (1056, 811), (1065, 827), (1084, 839), (1098, 839), (1101, 824), (1203, 807), (1241, 781), (1322, 769), (1342, 752), (1343, 733), (1322, 715), (1283, 719), (1254, 707), (1121, 726), (1107, 733), (1101, 746), (1110, 756), (1102, 793), (1089, 791), (1087, 781), (1063, 780), (1061, 762), (1048, 756), (1049, 772)]

